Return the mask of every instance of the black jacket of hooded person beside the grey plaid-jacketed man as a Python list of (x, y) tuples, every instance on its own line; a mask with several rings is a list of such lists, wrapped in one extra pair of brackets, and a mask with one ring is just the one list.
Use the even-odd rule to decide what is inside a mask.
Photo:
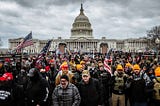
[(30, 81), (26, 89), (26, 98), (28, 106), (47, 106), (46, 102), (49, 94), (48, 82), (39, 77), (36, 81)]

